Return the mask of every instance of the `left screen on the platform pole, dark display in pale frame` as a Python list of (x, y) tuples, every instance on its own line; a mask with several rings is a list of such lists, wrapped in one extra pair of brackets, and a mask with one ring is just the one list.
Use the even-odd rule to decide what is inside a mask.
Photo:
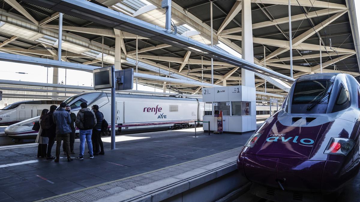
[(111, 73), (111, 66), (94, 69), (93, 76), (94, 76), (94, 89), (106, 89), (112, 87), (112, 73)]

